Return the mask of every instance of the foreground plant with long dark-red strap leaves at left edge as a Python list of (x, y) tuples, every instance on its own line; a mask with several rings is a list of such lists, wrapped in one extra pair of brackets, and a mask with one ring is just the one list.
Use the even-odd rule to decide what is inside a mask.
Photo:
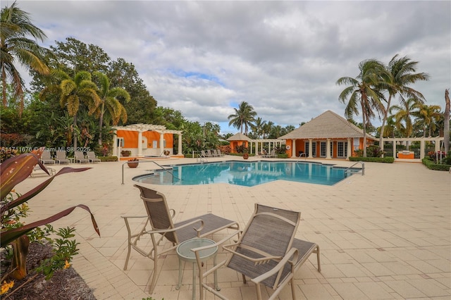
[[(49, 171), (45, 166), (39, 161), (40, 156), (44, 148), (38, 149), (36, 151), (32, 151), (32, 153), (20, 154), (19, 156), (14, 156), (12, 158), (8, 158), (8, 160), (4, 161), (0, 165), (0, 196), (1, 196), (1, 206), (0, 206), (0, 216), (2, 222), (4, 221), (4, 215), (11, 208), (15, 208), (16, 206), (23, 204), (25, 201), (29, 201), (34, 196), (42, 192), (43, 189), (47, 187), (54, 180), (56, 176), (63, 175), (66, 173), (74, 173), (74, 172), (82, 172), (88, 170), (89, 168), (62, 168), (58, 173), (54, 176), (49, 177), (48, 180), (45, 180), (41, 184), (37, 185), (37, 187), (31, 189), (18, 196), (17, 199), (8, 202), (6, 201), (6, 197), (13, 190), (13, 188), (18, 185), (20, 182), (23, 182), (30, 174), (33, 172), (35, 165), (39, 165), (39, 167), (44, 170), (47, 174)], [(49, 174), (50, 175), (50, 174)], [(97, 226), (97, 222), (94, 218), (94, 215), (89, 210), (89, 207), (79, 204), (78, 206), (72, 206), (70, 208), (65, 209), (55, 215), (51, 215), (49, 218), (44, 220), (38, 220), (36, 222), (32, 222), (27, 225), (23, 225), (17, 228), (8, 229), (4, 227), (4, 224), (1, 224), (1, 232), (0, 232), (0, 246), (4, 247), (8, 244), (11, 244), (14, 249), (13, 260), (18, 260), (13, 265), (16, 265), (16, 270), (13, 270), (13, 277), (20, 280), (26, 275), (25, 268), (25, 259), (28, 251), (28, 240), (26, 237), (27, 232), (35, 229), (36, 227), (47, 225), (48, 223), (54, 222), (64, 216), (72, 213), (72, 211), (77, 208), (83, 208), (89, 212), (91, 215), (92, 225), (94, 226), (94, 230), (97, 232), (97, 235), (100, 237), (99, 227)], [(7, 220), (7, 218), (6, 218)], [(15, 275), (16, 274), (16, 275)]]

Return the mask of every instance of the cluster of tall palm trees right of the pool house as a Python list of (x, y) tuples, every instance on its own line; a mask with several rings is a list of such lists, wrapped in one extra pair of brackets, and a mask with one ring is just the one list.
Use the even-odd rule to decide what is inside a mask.
[[(379, 130), (379, 145), (383, 150), (383, 137), (394, 137), (395, 133), (402, 137), (412, 137), (414, 128), (422, 125), (422, 135), (426, 131), (431, 136), (443, 120), (440, 106), (425, 104), (426, 99), (421, 92), (409, 85), (421, 80), (428, 80), (427, 73), (416, 71), (418, 62), (407, 56), (393, 56), (388, 65), (375, 59), (359, 63), (357, 77), (340, 77), (337, 85), (347, 85), (338, 96), (339, 101), (346, 104), (345, 116), (352, 119), (362, 113), (364, 144), (366, 144), (366, 128), (371, 119), (382, 117)], [(400, 104), (392, 105), (393, 99), (399, 96)], [(390, 114), (390, 115), (389, 115)], [(412, 117), (415, 119), (412, 120)], [(418, 132), (418, 130), (416, 130)], [(366, 147), (364, 147), (366, 156)]]

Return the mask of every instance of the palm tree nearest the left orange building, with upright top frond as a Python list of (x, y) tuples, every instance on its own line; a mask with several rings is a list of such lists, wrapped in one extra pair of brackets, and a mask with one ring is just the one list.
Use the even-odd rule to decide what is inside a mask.
[(125, 102), (128, 102), (130, 101), (130, 94), (121, 87), (110, 89), (110, 80), (104, 73), (96, 71), (93, 75), (97, 77), (100, 83), (98, 94), (101, 99), (101, 104), (97, 109), (97, 116), (99, 118), (99, 145), (101, 145), (101, 129), (104, 127), (104, 113), (106, 111), (109, 113), (113, 125), (118, 125), (120, 120), (123, 123), (127, 122), (127, 111), (125, 111), (119, 98), (123, 98)]

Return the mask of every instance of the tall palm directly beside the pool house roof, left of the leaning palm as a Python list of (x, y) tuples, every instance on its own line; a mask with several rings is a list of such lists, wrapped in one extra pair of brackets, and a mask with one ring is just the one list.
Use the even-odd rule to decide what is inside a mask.
[(349, 85), (341, 92), (338, 99), (346, 103), (345, 117), (352, 118), (359, 115), (359, 106), (362, 110), (363, 131), (364, 131), (364, 157), (366, 157), (366, 126), (371, 125), (371, 118), (375, 116), (373, 109), (378, 113), (384, 111), (382, 104), (383, 94), (378, 87), (381, 85), (381, 75), (385, 71), (383, 64), (370, 59), (359, 63), (360, 73), (356, 78), (341, 77), (337, 80), (337, 85)]

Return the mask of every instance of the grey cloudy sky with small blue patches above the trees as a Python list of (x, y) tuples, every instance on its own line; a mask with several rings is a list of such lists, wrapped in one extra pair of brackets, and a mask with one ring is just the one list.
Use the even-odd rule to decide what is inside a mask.
[[(1, 6), (12, 4), (5, 0)], [(263, 120), (343, 115), (343, 76), (395, 54), (431, 80), (412, 85), (444, 108), (451, 87), (451, 1), (24, 1), (44, 46), (74, 37), (133, 63), (159, 106), (228, 127), (247, 101)], [(361, 118), (354, 118), (361, 122)], [(380, 124), (376, 119), (375, 125)]]

